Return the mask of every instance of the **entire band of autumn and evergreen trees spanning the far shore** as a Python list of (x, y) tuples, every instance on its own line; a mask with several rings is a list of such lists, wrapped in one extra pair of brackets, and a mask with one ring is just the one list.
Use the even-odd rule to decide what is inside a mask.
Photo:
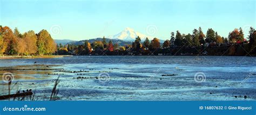
[[(0, 55), (200, 55), (208, 52), (210, 55), (256, 55), (256, 31), (250, 27), (248, 37), (240, 27), (235, 28), (227, 38), (221, 37), (218, 32), (208, 28), (207, 32), (201, 27), (194, 29), (192, 34), (171, 32), (170, 39), (160, 44), (158, 38), (144, 41), (137, 37), (132, 44), (119, 46), (110, 40), (88, 42), (84, 45), (56, 45), (48, 31), (39, 33), (28, 31), (21, 34), (17, 28), (14, 32), (8, 27), (0, 26)], [(247, 38), (247, 39), (246, 39)], [(244, 50), (241, 53), (241, 49)]]

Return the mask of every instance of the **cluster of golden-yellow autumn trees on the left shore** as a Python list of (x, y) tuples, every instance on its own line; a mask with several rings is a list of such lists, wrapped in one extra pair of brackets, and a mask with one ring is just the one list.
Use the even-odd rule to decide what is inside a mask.
[(51, 55), (57, 51), (57, 45), (46, 30), (39, 33), (28, 31), (14, 32), (8, 26), (0, 26), (0, 55)]

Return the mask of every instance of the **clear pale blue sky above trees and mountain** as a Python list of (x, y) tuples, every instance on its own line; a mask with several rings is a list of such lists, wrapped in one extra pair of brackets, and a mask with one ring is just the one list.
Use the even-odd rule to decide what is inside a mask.
[[(224, 1), (83, 1), (83, 0), (0, 0), (0, 25), (18, 27), (24, 33), (57, 28), (53, 39), (84, 40), (107, 37), (131, 27), (151, 36), (170, 39), (170, 32), (192, 33), (201, 26), (227, 37), (234, 28), (256, 27), (255, 0)], [(55, 26), (57, 25), (57, 26)], [(60, 27), (60, 28), (59, 28)]]

